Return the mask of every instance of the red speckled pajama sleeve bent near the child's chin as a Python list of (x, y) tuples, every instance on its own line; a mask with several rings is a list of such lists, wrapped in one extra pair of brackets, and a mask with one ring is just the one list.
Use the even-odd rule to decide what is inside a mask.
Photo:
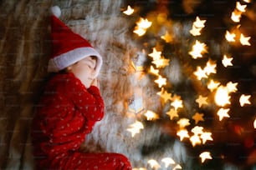
[(84, 85), (75, 79), (67, 81), (65, 85), (67, 96), (89, 121), (100, 121), (104, 116), (104, 101), (100, 96), (98, 87), (91, 86), (86, 89)]

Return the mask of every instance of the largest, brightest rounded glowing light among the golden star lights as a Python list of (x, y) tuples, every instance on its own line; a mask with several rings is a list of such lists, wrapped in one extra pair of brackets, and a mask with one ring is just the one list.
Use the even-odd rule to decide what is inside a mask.
[(227, 87), (220, 86), (218, 87), (216, 93), (215, 93), (215, 102), (218, 104), (218, 106), (225, 106), (226, 104), (230, 104), (229, 99), (230, 96), (228, 95), (228, 89)]

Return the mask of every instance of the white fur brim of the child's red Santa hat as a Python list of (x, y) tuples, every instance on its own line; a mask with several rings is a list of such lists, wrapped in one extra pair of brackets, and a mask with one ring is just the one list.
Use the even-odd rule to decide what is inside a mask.
[(48, 64), (48, 72), (59, 72), (65, 67), (69, 67), (70, 65), (78, 62), (84, 57), (90, 56), (97, 57), (97, 63), (95, 68), (95, 77), (97, 77), (100, 72), (100, 67), (102, 65), (102, 57), (100, 56), (100, 53), (97, 52), (93, 47), (78, 47), (74, 50), (70, 50), (69, 52), (62, 53), (57, 57), (51, 58)]

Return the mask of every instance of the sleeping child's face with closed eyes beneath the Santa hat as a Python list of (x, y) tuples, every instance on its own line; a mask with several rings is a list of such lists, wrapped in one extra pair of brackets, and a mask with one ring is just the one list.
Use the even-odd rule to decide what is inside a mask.
[(85, 57), (84, 59), (75, 62), (69, 66), (69, 71), (74, 73), (74, 76), (84, 83), (86, 88), (90, 87), (95, 79), (96, 59), (93, 57)]

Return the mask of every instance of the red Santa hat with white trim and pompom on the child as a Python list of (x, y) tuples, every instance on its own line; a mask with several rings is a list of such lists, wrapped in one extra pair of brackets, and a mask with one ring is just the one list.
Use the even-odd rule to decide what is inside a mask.
[(84, 37), (72, 32), (59, 20), (61, 12), (58, 6), (52, 7), (51, 10), (54, 15), (51, 16), (52, 55), (49, 59), (48, 72), (59, 72), (84, 57), (95, 56), (97, 76), (102, 65), (100, 53)]

